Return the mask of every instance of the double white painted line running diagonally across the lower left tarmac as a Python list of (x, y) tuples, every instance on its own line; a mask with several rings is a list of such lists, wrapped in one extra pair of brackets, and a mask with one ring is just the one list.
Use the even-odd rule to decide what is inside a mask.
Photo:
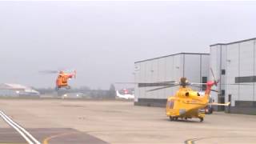
[(29, 144), (41, 144), (35, 139), (29, 132), (27, 132), (22, 126), (19, 126), (16, 122), (14, 122), (11, 118), (9, 118), (2, 110), (0, 110), (0, 116), (2, 119), (8, 123), (9, 126), (13, 127)]

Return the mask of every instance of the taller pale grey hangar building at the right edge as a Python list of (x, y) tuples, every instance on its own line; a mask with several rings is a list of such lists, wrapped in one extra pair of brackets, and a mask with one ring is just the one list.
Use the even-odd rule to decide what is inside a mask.
[(220, 80), (218, 102), (231, 102), (227, 113), (256, 114), (255, 43), (251, 38), (210, 46), (210, 67)]

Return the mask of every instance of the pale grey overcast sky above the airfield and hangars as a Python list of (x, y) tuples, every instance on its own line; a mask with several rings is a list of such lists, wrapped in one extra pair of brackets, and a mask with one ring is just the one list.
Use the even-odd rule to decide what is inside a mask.
[(256, 2), (0, 2), (0, 82), (108, 89), (132, 82), (134, 62), (256, 37)]

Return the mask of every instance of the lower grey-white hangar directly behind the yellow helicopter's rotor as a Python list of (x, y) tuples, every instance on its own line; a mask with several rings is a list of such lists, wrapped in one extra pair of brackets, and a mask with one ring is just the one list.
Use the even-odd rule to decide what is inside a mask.
[[(190, 82), (207, 82), (210, 74), (210, 54), (179, 53), (160, 58), (146, 59), (135, 62), (134, 105), (138, 106), (166, 106), (166, 99), (174, 95), (177, 87), (155, 90), (156, 85), (143, 86), (148, 82), (179, 82), (186, 77)], [(201, 88), (202, 89), (202, 88)]]

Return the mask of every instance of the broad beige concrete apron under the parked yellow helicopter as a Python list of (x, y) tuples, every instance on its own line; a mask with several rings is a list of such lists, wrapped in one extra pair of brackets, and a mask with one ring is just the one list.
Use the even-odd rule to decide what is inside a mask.
[[(0, 109), (42, 143), (256, 143), (251, 115), (214, 113), (204, 122), (170, 122), (163, 108), (70, 100), (0, 100)], [(1, 140), (7, 142), (9, 129), (0, 122)]]

